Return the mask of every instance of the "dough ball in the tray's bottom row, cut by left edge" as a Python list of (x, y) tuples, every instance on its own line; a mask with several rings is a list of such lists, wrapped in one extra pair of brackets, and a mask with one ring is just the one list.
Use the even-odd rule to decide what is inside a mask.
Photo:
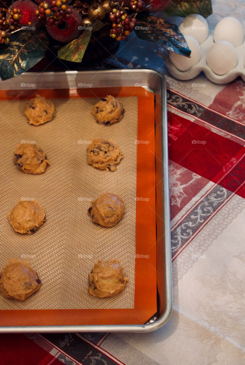
[(24, 301), (37, 290), (42, 283), (38, 274), (28, 261), (10, 258), (0, 273), (0, 292), (5, 298)]

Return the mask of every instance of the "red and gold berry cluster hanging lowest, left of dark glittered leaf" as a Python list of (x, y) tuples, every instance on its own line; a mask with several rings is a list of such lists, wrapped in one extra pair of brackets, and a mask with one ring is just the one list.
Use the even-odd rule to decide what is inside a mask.
[(109, 20), (112, 22), (110, 37), (116, 41), (124, 40), (134, 30), (136, 19), (127, 15), (124, 10), (112, 9), (109, 15)]

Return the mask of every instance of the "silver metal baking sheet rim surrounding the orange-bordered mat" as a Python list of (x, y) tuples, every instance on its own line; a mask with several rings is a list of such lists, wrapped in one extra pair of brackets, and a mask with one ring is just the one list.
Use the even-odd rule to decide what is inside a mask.
[[(96, 76), (96, 77), (95, 77)], [(5, 326), (6, 332), (149, 332), (161, 327), (172, 311), (171, 246), (167, 157), (167, 116), (165, 79), (153, 70), (110, 70), (95, 72), (26, 73), (0, 83), (2, 90), (21, 90), (34, 83), (39, 89), (135, 87), (155, 95), (155, 179), (157, 234), (157, 314), (146, 324), (84, 326)], [(92, 82), (91, 82), (92, 80)], [(137, 80), (137, 82), (136, 82)], [(29, 86), (30, 85), (30, 86)]]

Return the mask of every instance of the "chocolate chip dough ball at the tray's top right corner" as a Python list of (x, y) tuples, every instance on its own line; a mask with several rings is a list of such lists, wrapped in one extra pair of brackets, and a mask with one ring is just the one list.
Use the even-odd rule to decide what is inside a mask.
[(111, 95), (107, 95), (95, 104), (91, 114), (95, 116), (97, 123), (109, 126), (122, 119), (124, 109), (120, 101)]

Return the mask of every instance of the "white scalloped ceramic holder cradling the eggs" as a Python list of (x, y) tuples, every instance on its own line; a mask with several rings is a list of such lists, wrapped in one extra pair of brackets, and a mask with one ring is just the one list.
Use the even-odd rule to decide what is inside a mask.
[(213, 35), (209, 35), (206, 41), (200, 44), (201, 47), (201, 58), (197, 64), (192, 66), (187, 71), (179, 71), (170, 59), (166, 60), (166, 66), (172, 76), (178, 78), (179, 80), (191, 80), (192, 78), (198, 76), (200, 72), (204, 72), (206, 77), (216, 84), (226, 84), (227, 82), (233, 81), (237, 76), (241, 76), (242, 80), (245, 82), (245, 67), (244, 67), (244, 55), (245, 55), (245, 40), (243, 43), (236, 47), (238, 55), (238, 64), (235, 68), (228, 71), (225, 75), (219, 76), (212, 71), (206, 62), (206, 57), (208, 50), (214, 44)]

